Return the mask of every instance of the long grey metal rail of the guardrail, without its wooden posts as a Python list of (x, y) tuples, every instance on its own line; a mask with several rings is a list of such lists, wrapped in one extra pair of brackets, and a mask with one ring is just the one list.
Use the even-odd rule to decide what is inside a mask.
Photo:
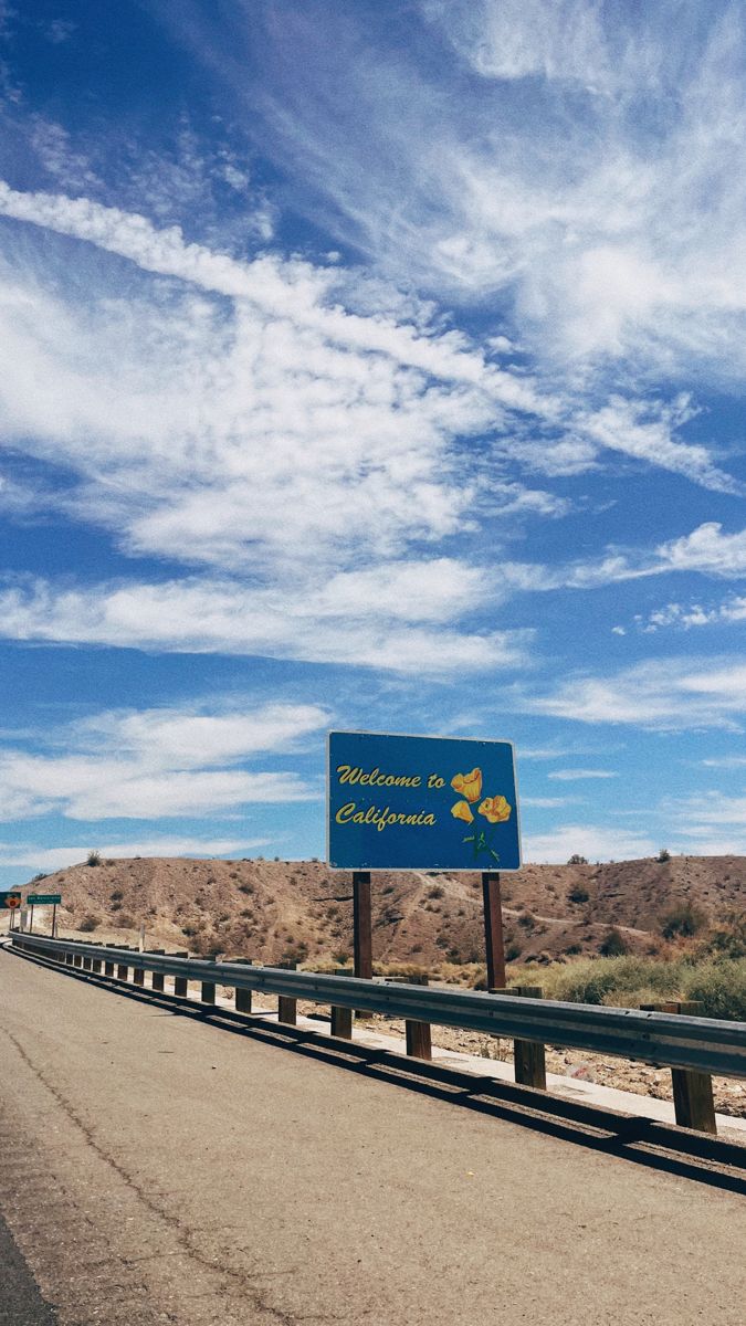
[(94, 961), (258, 991), (289, 1000), (382, 1013), (409, 1022), (457, 1026), (488, 1036), (611, 1054), (722, 1077), (746, 1078), (746, 1022), (709, 1017), (600, 1008), (426, 985), (381, 985), (354, 976), (323, 976), (277, 967), (251, 967), (202, 957), (170, 957), (73, 940), (12, 935), (13, 947), (65, 960), (69, 953)]

